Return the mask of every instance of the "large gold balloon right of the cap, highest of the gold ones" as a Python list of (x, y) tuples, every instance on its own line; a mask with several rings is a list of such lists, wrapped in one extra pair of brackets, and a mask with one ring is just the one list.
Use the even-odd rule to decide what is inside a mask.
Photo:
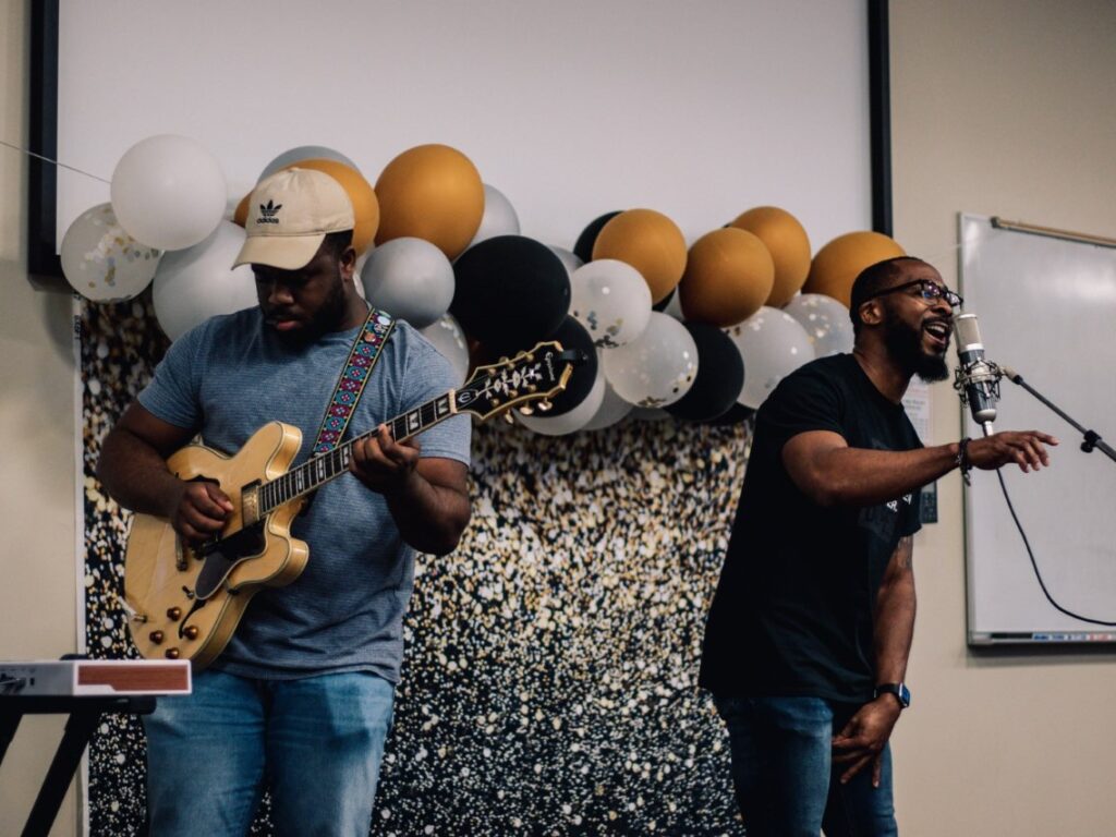
[(411, 235), (446, 258), (469, 247), (484, 215), (484, 184), (464, 154), (448, 145), (419, 145), (388, 163), (376, 181), (382, 211), (376, 243)]

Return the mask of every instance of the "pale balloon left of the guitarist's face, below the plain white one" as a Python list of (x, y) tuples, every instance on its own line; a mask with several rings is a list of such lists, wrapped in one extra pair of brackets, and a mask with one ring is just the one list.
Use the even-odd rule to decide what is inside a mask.
[(222, 221), (200, 244), (163, 257), (152, 304), (167, 337), (176, 340), (210, 317), (259, 305), (251, 266), (232, 268), (243, 244), (244, 230)]

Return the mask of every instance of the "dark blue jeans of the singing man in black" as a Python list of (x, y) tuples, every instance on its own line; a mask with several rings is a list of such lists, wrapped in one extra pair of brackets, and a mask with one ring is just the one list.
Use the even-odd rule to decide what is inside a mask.
[(879, 787), (866, 767), (847, 785), (835, 734), (859, 709), (820, 698), (716, 698), (729, 728), (732, 781), (748, 837), (893, 837), (892, 753)]

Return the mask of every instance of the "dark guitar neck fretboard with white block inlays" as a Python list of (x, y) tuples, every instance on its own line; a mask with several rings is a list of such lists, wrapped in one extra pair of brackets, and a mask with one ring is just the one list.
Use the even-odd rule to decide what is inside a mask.
[[(420, 404), (402, 415), (385, 422), (387, 432), (396, 442), (403, 442), (439, 422), (458, 414), (456, 391), (439, 395), (436, 398)], [(260, 514), (267, 514), (286, 502), (306, 497), (327, 482), (348, 472), (353, 459), (353, 445), (365, 439), (372, 439), (379, 427), (363, 433), (344, 442), (331, 451), (320, 453), (301, 465), (292, 468), (281, 477), (262, 483), (259, 487)]]

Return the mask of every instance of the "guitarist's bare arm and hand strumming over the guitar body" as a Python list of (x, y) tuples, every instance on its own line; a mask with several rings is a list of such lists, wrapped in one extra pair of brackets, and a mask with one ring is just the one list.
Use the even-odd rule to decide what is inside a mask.
[(97, 477), (125, 508), (167, 518), (189, 540), (219, 532), (233, 510), (212, 482), (184, 482), (166, 468), (166, 458), (194, 436), (133, 402), (100, 446)]

